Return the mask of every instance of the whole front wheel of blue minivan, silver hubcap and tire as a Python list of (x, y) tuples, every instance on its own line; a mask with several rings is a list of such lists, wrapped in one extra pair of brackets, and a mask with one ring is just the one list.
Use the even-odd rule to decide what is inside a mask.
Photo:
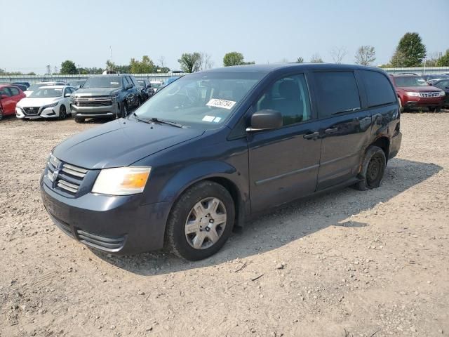
[(186, 260), (202, 260), (219, 251), (234, 225), (234, 201), (220, 184), (205, 180), (186, 190), (167, 222), (170, 251)]

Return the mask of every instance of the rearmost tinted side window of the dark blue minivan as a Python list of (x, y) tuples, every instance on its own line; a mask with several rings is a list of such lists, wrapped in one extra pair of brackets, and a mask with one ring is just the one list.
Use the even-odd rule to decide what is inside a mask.
[(384, 74), (368, 70), (362, 70), (361, 74), (368, 97), (368, 107), (396, 102), (396, 93)]

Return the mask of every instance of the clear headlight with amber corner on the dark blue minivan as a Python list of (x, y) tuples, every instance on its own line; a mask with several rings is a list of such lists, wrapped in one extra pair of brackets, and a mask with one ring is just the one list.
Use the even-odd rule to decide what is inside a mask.
[(100, 171), (93, 193), (128, 195), (142, 193), (147, 183), (151, 167), (118, 167)]

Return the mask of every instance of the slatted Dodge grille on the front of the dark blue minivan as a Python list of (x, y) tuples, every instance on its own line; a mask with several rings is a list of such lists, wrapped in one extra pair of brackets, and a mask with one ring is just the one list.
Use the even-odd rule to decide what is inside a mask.
[[(55, 176), (56, 168), (58, 168), (57, 176)], [(47, 178), (51, 180), (53, 186), (72, 195), (78, 192), (79, 186), (88, 172), (86, 169), (67, 163), (61, 166), (61, 161), (53, 155), (48, 159), (47, 169)]]

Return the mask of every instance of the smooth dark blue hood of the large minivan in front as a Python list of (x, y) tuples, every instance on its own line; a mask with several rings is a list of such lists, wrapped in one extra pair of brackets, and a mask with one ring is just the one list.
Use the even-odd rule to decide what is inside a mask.
[(151, 154), (201, 136), (203, 130), (116, 119), (68, 138), (55, 157), (85, 169), (128, 166)]

